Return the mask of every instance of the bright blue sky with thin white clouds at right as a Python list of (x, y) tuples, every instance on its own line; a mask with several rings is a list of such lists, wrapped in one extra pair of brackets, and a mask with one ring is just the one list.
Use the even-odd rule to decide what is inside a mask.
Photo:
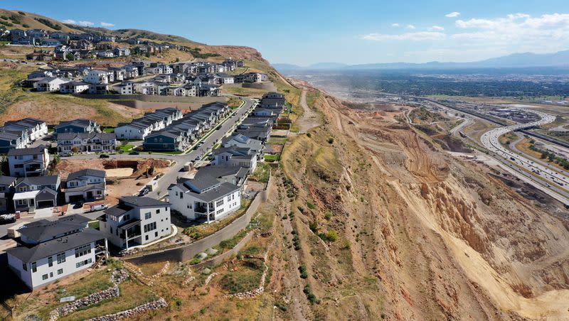
[(247, 45), (272, 63), (468, 62), (569, 49), (568, 0), (2, 0), (68, 23)]

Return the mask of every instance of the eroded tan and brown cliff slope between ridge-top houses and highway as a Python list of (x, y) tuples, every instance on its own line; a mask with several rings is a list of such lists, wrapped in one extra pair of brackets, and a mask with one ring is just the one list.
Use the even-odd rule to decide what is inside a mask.
[[(349, 109), (331, 97), (317, 109), (324, 124), (282, 156), (281, 210), (293, 217), (281, 232), (294, 229), (301, 246), (283, 241), (277, 257), (295, 261), (273, 282), (297, 317), (569, 318), (569, 232), (560, 219), (484, 165), (398, 124), (402, 111)], [(320, 304), (299, 292), (307, 283)]]

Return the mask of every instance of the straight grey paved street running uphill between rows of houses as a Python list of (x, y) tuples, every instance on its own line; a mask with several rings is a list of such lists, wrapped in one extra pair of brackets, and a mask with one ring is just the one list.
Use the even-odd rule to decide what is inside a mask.
[[(220, 141), (221, 138), (223, 138), (223, 136), (233, 132), (236, 124), (238, 124), (238, 122), (243, 120), (243, 118), (252, 110), (253, 104), (255, 103), (255, 101), (252, 99), (243, 98), (243, 100), (245, 100), (245, 104), (243, 104), (243, 106), (240, 107), (240, 109), (238, 109), (237, 112), (235, 112), (235, 114), (231, 116), (230, 119), (228, 119), (223, 123), (223, 125), (221, 125), (221, 129), (214, 131), (213, 134), (211, 134), (210, 136), (208, 136), (208, 138), (203, 140), (203, 145), (201, 146), (201, 148), (196, 149), (196, 151), (190, 151), (185, 155), (169, 156), (171, 157), (170, 159), (176, 160), (176, 164), (172, 166), (169, 172), (166, 172), (164, 176), (162, 176), (158, 180), (158, 185), (154, 188), (152, 192), (149, 192), (147, 196), (160, 198), (168, 194), (168, 186), (172, 183), (176, 183), (176, 180), (178, 179), (179, 175), (182, 174), (181, 170), (184, 168), (185, 163), (191, 160), (196, 160), (196, 158), (198, 157), (201, 158), (206, 153), (208, 153), (208, 151), (210, 151), (211, 148), (213, 148), (213, 146), (215, 146), (216, 143), (218, 143), (218, 141)], [(138, 156), (142, 156), (142, 154)], [(150, 156), (154, 156), (154, 158), (160, 158), (162, 155), (154, 154)]]

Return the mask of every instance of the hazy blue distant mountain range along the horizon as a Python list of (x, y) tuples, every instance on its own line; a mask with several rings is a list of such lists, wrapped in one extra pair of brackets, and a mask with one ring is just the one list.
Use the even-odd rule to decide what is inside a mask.
[(272, 64), (279, 71), (294, 70), (362, 70), (362, 69), (468, 69), (468, 68), (522, 68), (522, 67), (569, 67), (569, 50), (557, 53), (514, 53), (498, 58), (476, 62), (390, 62), (363, 65), (346, 65), (339, 62), (319, 62), (302, 67), (285, 63)]

